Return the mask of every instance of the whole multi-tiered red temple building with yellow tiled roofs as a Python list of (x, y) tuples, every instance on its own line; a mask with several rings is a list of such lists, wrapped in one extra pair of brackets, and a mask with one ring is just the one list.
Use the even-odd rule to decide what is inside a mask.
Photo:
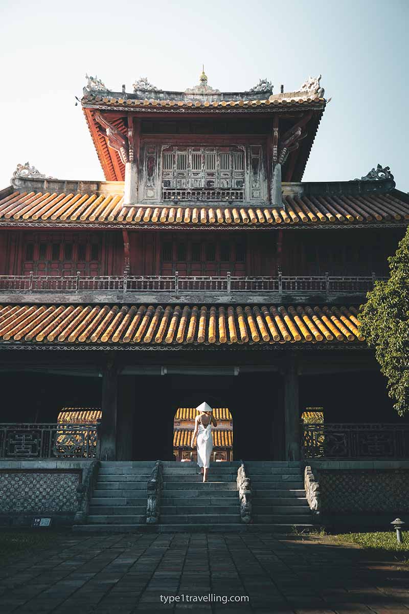
[(88, 418), (102, 460), (182, 461), (181, 408), (203, 401), (228, 408), (214, 460), (408, 456), (359, 307), (409, 197), (388, 166), (302, 181), (320, 79), (224, 92), (202, 72), (129, 92), (87, 77), (105, 181), (26, 163), (0, 191), (0, 456), (39, 457), (44, 433)]

